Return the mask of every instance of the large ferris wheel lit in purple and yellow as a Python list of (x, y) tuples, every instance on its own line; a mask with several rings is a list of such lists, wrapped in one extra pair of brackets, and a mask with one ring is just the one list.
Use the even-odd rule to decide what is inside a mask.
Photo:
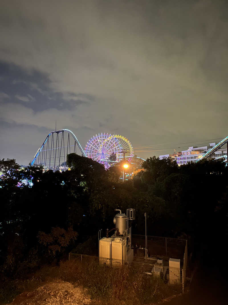
[(108, 168), (111, 165), (110, 156), (114, 153), (116, 161), (123, 160), (123, 151), (126, 161), (130, 162), (134, 156), (133, 147), (130, 141), (122, 135), (98, 134), (93, 136), (85, 145), (85, 154), (99, 163), (105, 164)]

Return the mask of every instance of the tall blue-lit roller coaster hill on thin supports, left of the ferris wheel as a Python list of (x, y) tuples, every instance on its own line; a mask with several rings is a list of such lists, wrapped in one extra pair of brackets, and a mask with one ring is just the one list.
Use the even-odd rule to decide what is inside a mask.
[[(67, 133), (67, 138), (64, 138), (64, 132)], [(73, 138), (73, 141), (72, 138), (70, 138), (70, 135)], [(52, 169), (55, 171), (60, 170), (61, 164), (64, 163), (62, 169), (66, 170), (67, 154), (76, 152), (76, 144), (81, 151), (81, 155), (86, 157), (84, 150), (72, 131), (69, 129), (51, 131), (37, 150), (31, 165), (41, 164), (45, 169)], [(74, 147), (73, 151), (72, 146)]]

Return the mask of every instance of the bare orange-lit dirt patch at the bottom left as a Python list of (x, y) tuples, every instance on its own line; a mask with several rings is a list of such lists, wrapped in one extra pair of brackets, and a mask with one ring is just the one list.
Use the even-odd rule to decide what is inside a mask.
[(86, 289), (69, 282), (56, 280), (38, 287), (32, 292), (23, 292), (8, 305), (84, 305), (91, 304)]

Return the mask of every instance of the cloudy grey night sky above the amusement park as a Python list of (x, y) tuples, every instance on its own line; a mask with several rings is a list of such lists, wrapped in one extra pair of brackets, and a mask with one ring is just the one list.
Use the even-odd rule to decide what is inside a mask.
[(55, 120), (82, 147), (228, 134), (227, 1), (1, 3), (0, 158), (28, 164)]

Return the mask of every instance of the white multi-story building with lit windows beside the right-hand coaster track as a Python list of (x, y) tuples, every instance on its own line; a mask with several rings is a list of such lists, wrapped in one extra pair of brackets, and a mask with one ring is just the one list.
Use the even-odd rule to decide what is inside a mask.
[[(208, 152), (217, 143), (209, 143), (209, 146), (197, 147), (191, 146), (187, 150), (181, 152), (174, 152), (173, 154), (161, 155), (159, 159), (170, 157), (173, 161), (176, 160), (178, 165), (187, 164), (188, 162), (196, 162), (202, 158), (202, 156)], [(215, 153), (210, 156), (211, 159), (217, 159), (221, 156), (227, 156), (227, 149), (218, 149)]]

